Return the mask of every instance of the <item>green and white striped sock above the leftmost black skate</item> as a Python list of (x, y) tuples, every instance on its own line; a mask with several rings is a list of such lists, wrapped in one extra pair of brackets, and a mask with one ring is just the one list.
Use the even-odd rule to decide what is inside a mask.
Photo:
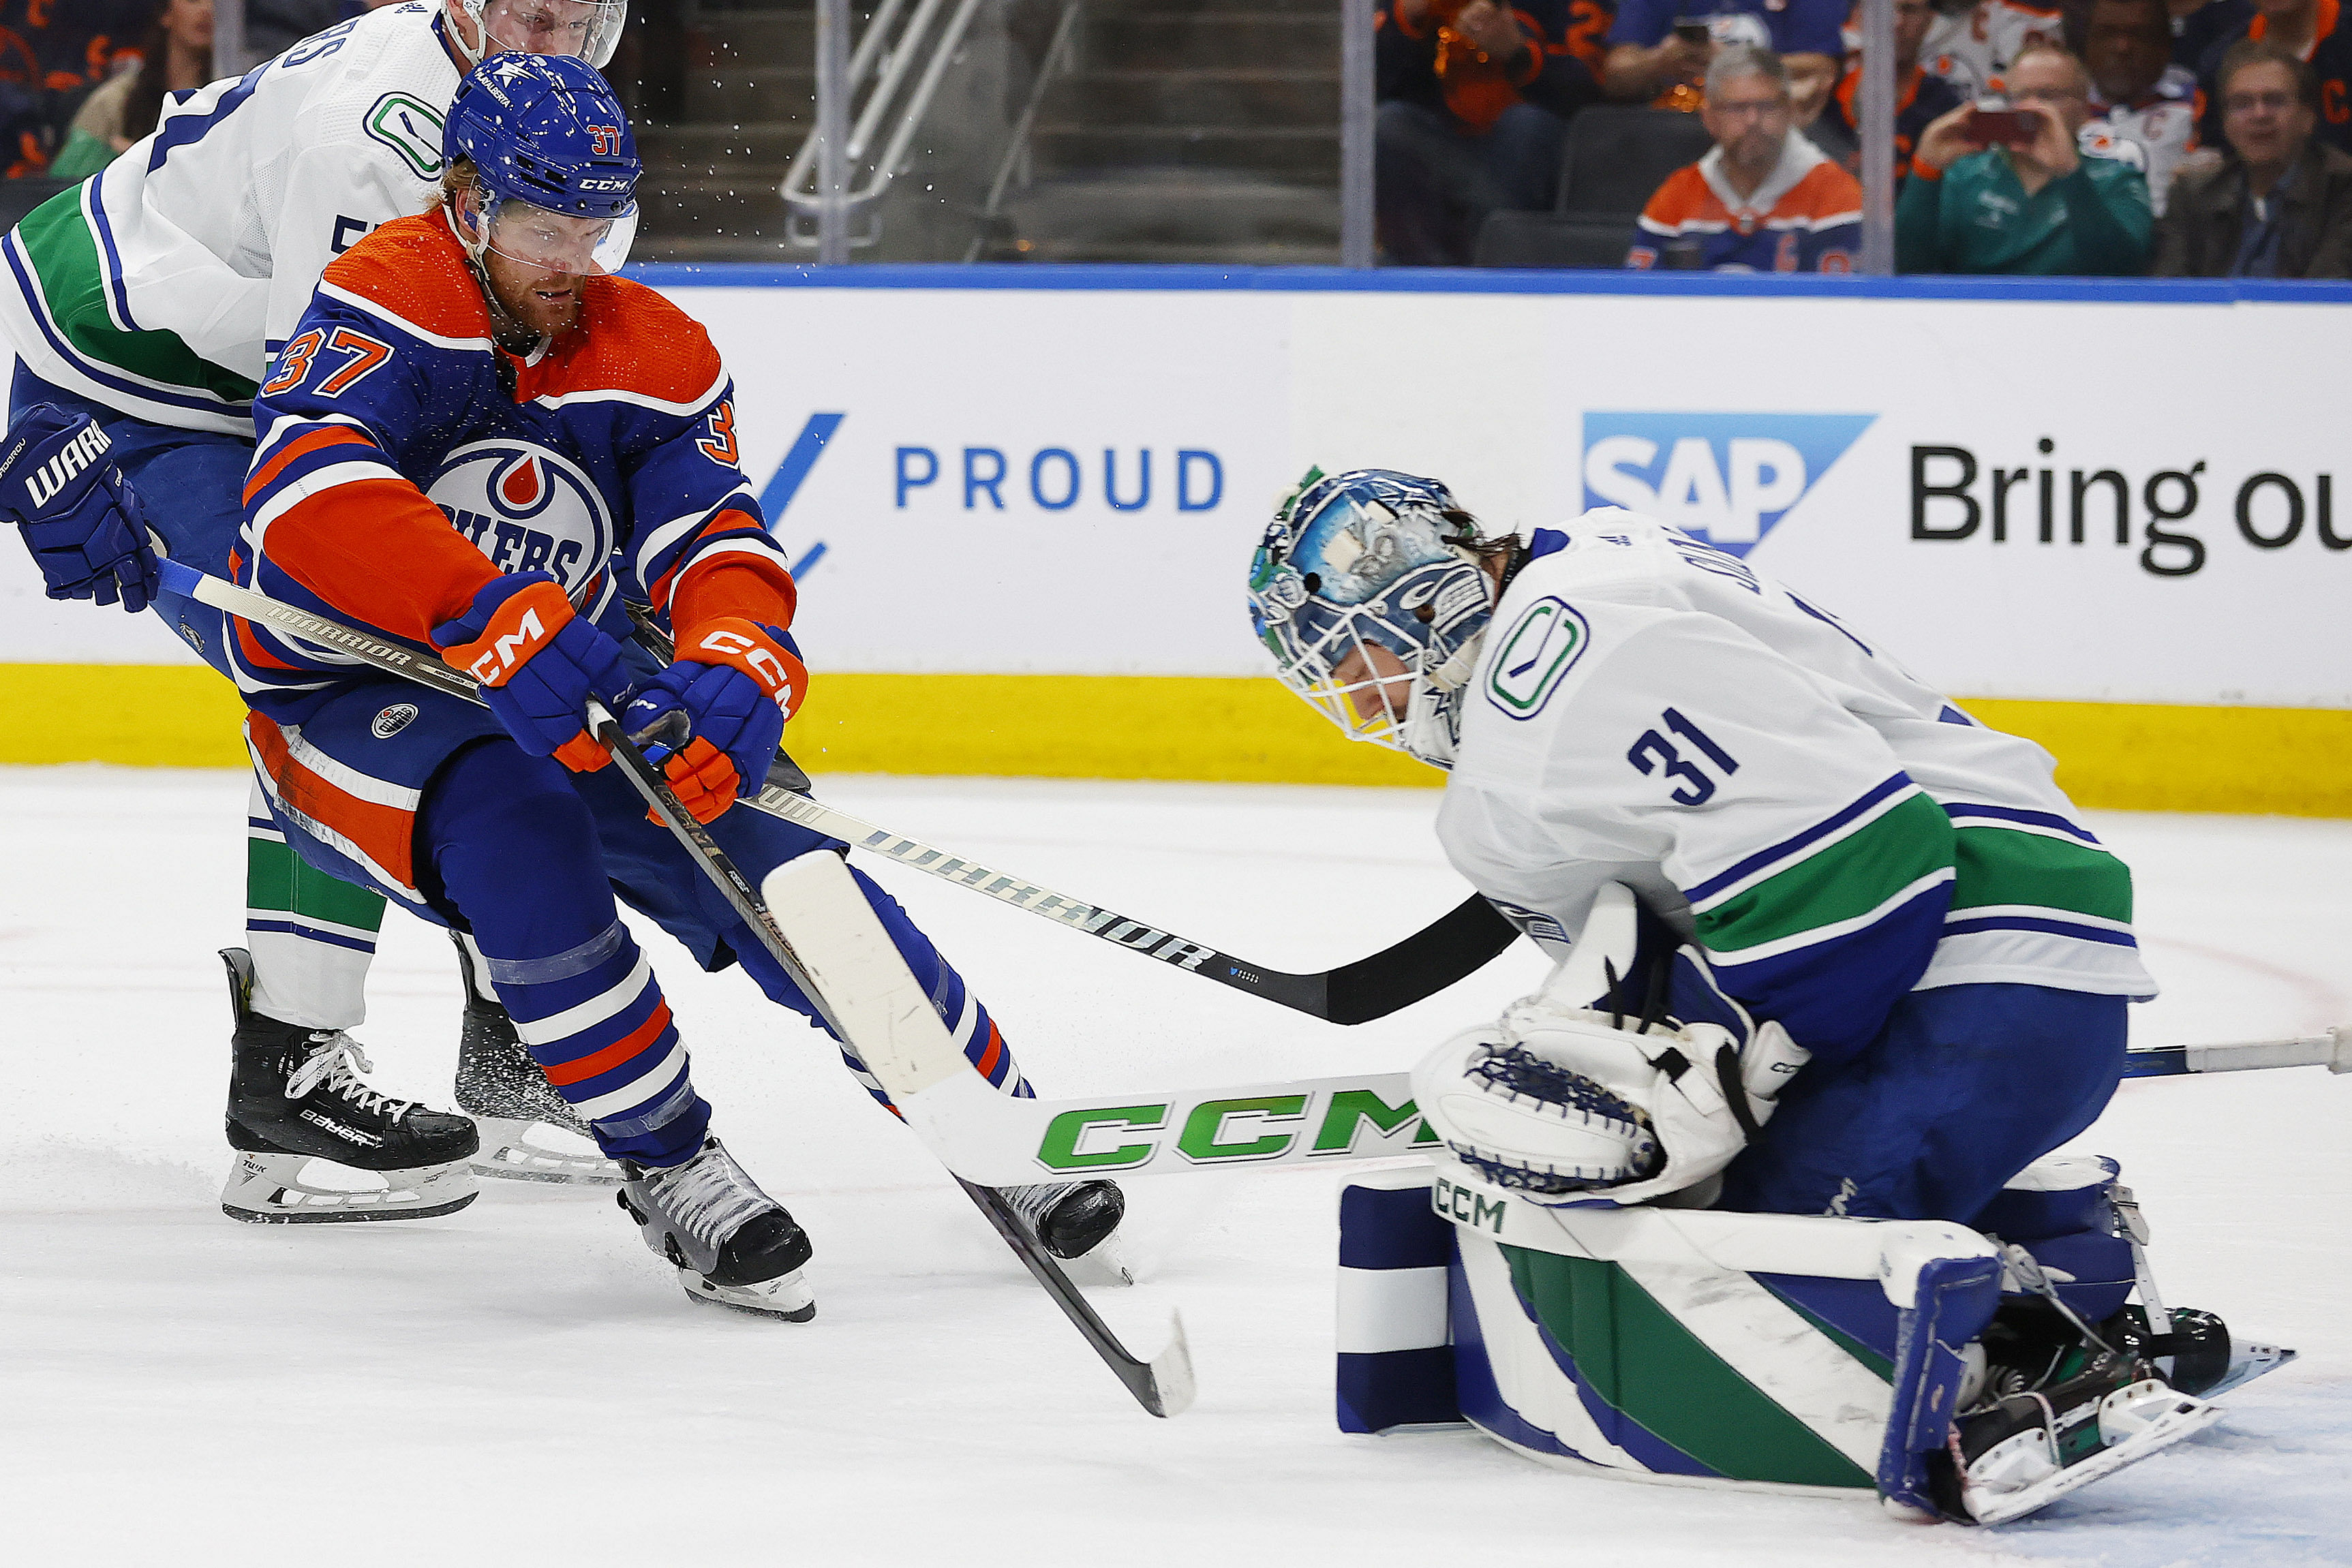
[(254, 1011), (306, 1030), (355, 1030), (367, 1018), (383, 896), (303, 863), (270, 820), (261, 785), (245, 811), (245, 947)]

